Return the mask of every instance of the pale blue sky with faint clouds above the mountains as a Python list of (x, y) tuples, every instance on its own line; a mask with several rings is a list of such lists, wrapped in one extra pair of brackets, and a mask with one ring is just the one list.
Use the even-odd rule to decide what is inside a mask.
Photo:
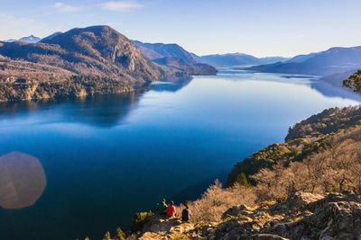
[(361, 45), (360, 0), (0, 0), (0, 40), (109, 25), (199, 55), (292, 57)]

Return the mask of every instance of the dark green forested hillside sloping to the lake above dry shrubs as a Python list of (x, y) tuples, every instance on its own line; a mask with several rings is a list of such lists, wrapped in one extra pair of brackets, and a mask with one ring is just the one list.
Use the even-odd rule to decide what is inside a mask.
[(361, 108), (332, 108), (302, 120), (289, 129), (282, 144), (273, 144), (248, 156), (235, 165), (228, 175), (228, 185), (236, 182), (241, 173), (252, 175), (262, 168), (280, 162), (297, 162), (329, 148), (329, 141), (338, 131), (361, 125)]

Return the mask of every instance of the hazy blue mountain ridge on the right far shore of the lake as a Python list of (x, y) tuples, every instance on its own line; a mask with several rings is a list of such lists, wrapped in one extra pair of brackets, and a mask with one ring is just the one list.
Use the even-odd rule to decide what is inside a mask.
[(302, 55), (286, 62), (248, 67), (248, 70), (302, 75), (329, 76), (361, 67), (361, 47), (332, 48)]

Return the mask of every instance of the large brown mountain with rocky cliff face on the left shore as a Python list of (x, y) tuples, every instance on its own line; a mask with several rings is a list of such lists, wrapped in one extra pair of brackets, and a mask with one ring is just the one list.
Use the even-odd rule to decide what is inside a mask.
[(0, 43), (0, 55), (0, 101), (120, 93), (164, 77), (108, 26), (76, 28), (36, 44)]

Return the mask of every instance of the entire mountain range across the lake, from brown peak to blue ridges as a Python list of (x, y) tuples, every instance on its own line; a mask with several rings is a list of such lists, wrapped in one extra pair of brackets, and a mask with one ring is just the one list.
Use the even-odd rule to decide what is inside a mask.
[(132, 91), (166, 76), (215, 75), (215, 67), (326, 76), (324, 81), (341, 85), (361, 68), (361, 47), (294, 58), (198, 56), (178, 44), (128, 40), (108, 26), (76, 28), (42, 40), (0, 41), (0, 101)]

